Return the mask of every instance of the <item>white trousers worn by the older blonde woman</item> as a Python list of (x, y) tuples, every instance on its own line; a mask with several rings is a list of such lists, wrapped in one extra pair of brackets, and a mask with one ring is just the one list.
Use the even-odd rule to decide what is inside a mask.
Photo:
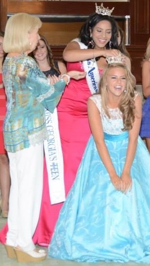
[(6, 244), (32, 251), (42, 199), (43, 143), (8, 152), (8, 157), (11, 187)]

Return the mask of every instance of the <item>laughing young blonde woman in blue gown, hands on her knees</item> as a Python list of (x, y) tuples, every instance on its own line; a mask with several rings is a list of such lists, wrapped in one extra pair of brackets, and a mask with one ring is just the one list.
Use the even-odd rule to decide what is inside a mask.
[(150, 263), (150, 154), (139, 136), (135, 83), (125, 65), (108, 64), (88, 99), (92, 135), (49, 245), (52, 258)]

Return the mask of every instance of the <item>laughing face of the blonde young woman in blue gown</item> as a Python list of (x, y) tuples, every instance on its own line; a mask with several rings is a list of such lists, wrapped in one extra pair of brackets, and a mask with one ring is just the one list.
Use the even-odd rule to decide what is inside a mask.
[(110, 68), (106, 78), (108, 97), (121, 97), (127, 86), (126, 71), (122, 67)]

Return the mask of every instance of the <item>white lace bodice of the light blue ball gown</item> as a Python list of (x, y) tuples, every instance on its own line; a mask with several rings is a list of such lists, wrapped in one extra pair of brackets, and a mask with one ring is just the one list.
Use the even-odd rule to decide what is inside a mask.
[(124, 127), (122, 120), (122, 113), (119, 110), (119, 108), (114, 108), (114, 109), (109, 108), (110, 118), (108, 118), (108, 116), (106, 116), (101, 106), (101, 95), (94, 94), (90, 97), (90, 99), (93, 100), (93, 102), (96, 104), (100, 112), (103, 131), (106, 132), (107, 134), (113, 134), (113, 135), (118, 135), (123, 133), (123, 131), (121, 130)]

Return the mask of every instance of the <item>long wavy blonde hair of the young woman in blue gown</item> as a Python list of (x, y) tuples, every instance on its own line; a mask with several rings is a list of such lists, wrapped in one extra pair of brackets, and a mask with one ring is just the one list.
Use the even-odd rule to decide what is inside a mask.
[(122, 112), (123, 116), (123, 131), (130, 130), (133, 127), (135, 121), (135, 86), (136, 78), (131, 73), (130, 69), (122, 63), (108, 64), (106, 69), (103, 72), (103, 75), (100, 80), (98, 94), (101, 95), (101, 104), (104, 109), (105, 114), (110, 118), (109, 110), (107, 107), (108, 92), (106, 87), (106, 79), (110, 69), (114, 67), (121, 67), (125, 70), (125, 76), (127, 79), (126, 91), (122, 94), (122, 98), (118, 108)]

